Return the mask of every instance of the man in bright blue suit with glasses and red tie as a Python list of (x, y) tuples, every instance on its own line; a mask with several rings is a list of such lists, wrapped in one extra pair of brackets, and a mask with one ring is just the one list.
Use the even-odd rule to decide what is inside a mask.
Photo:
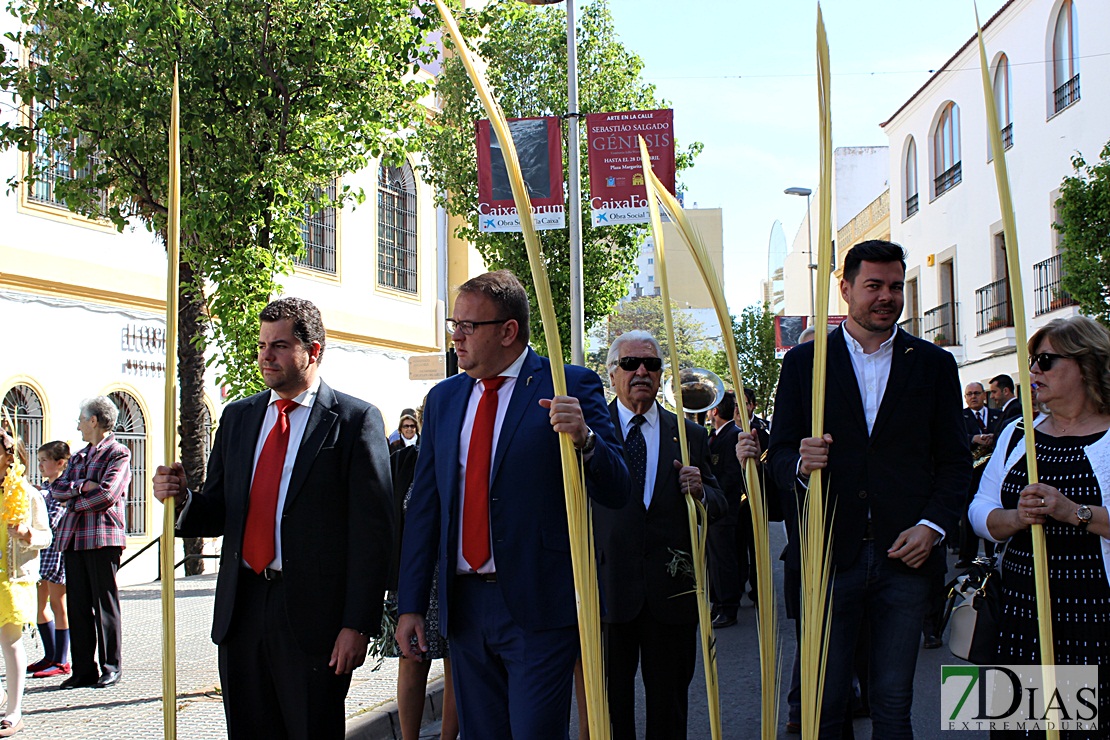
[(465, 374), (427, 396), (405, 518), (396, 639), (425, 650), (438, 562), (463, 737), (567, 737), (578, 628), (558, 434), (582, 452), (588, 495), (619, 507), (628, 470), (596, 373), (528, 348), (528, 300), (507, 271), (464, 283), (447, 328)]

